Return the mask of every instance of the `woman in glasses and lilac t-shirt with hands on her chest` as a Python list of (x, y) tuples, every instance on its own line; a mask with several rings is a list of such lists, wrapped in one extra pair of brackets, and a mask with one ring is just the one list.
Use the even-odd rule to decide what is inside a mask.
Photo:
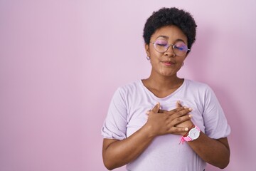
[(196, 39), (193, 17), (160, 9), (143, 36), (151, 74), (114, 93), (102, 128), (105, 167), (203, 171), (208, 162), (225, 168), (230, 127), (213, 90), (177, 76)]

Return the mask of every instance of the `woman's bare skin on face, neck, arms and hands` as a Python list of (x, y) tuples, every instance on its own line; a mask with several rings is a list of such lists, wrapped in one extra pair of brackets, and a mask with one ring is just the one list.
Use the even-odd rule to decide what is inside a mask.
[[(169, 43), (183, 41), (187, 44), (186, 35), (176, 26), (164, 26), (155, 31), (151, 36), (151, 42), (164, 38)], [(145, 45), (147, 56), (151, 61), (151, 74), (143, 80), (144, 86), (154, 95), (164, 98), (173, 93), (183, 83), (183, 79), (177, 77), (186, 56), (176, 56), (171, 47), (165, 53), (159, 53), (154, 49), (154, 44)], [(126, 165), (135, 160), (152, 140), (159, 135), (174, 134), (185, 135), (188, 128), (193, 125), (191, 121), (191, 108), (176, 104), (176, 109), (166, 111), (159, 110), (160, 104), (147, 112), (149, 118), (144, 126), (136, 133), (124, 140), (104, 139), (102, 157), (105, 167), (112, 170)], [(229, 163), (230, 149), (227, 138), (214, 140), (200, 133), (198, 139), (186, 142), (203, 160), (216, 167), (225, 168)], [(127, 155), (129, 154), (129, 155)]]

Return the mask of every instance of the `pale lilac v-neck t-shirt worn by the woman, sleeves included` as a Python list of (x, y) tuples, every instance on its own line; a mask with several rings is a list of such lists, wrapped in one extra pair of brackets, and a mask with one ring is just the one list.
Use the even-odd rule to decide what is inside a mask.
[[(204, 83), (185, 79), (181, 87), (165, 98), (157, 98), (141, 80), (122, 86), (114, 93), (107, 118), (102, 128), (104, 138), (123, 140), (146, 123), (146, 111), (160, 103), (161, 109), (176, 108), (176, 101), (193, 108), (191, 119), (210, 138), (225, 138), (230, 134), (223, 109), (213, 90)], [(136, 160), (127, 164), (132, 171), (203, 171), (206, 167), (201, 157), (185, 142), (181, 135), (161, 135), (151, 142)]]

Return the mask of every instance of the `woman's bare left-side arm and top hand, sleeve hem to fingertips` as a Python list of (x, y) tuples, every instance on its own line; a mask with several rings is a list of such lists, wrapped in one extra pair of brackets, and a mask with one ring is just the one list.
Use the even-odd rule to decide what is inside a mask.
[(102, 157), (105, 167), (112, 170), (135, 160), (158, 135), (186, 133), (188, 128), (174, 125), (190, 120), (188, 108), (176, 108), (169, 113), (159, 113), (159, 104), (150, 112), (146, 124), (124, 140), (104, 139)]

